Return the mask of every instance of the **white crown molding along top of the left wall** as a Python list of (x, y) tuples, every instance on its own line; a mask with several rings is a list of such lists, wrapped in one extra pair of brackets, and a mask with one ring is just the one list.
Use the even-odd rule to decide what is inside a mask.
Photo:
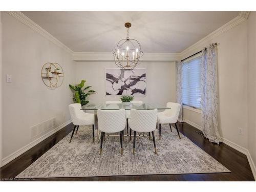
[(37, 25), (35, 22), (33, 22), (33, 20), (31, 20), (29, 17), (27, 17), (22, 12), (20, 12), (20, 11), (8, 11), (7, 13), (10, 14), (11, 16), (13, 16), (14, 18), (16, 18), (17, 20), (19, 20), (20, 22), (22, 22), (24, 25), (33, 29), (38, 34), (40, 34), (40, 35), (44, 36), (45, 38), (47, 38), (48, 40), (52, 41), (59, 48), (67, 51), (70, 54), (73, 54), (73, 51), (70, 48), (68, 48), (66, 45), (62, 44), (62, 42), (60, 42), (57, 38), (52, 36), (46, 30), (41, 28), (39, 25)]

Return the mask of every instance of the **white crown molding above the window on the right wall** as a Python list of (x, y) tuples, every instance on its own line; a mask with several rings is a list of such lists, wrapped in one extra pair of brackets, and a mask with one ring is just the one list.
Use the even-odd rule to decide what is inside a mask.
[(195, 52), (198, 50), (203, 49), (203, 47), (207, 44), (208, 41), (212, 40), (214, 37), (219, 36), (220, 34), (228, 31), (229, 29), (232, 29), (233, 27), (238, 26), (239, 24), (245, 22), (249, 16), (249, 11), (240, 11), (239, 15), (237, 17), (234, 17), (232, 20), (230, 20), (225, 25), (221, 26), (214, 32), (211, 32), (209, 35), (205, 36), (201, 40), (197, 41), (195, 44), (189, 46), (184, 51), (182, 51), (181, 57), (185, 58), (188, 56), (188, 54), (191, 54), (191, 52)]

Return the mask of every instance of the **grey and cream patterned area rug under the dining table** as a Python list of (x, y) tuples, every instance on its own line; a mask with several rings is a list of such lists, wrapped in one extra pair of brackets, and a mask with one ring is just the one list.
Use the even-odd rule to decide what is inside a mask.
[(71, 143), (70, 133), (17, 178), (230, 172), (184, 135), (181, 134), (180, 140), (174, 128), (170, 132), (168, 124), (162, 124), (160, 141), (156, 134), (157, 155), (152, 139), (137, 136), (135, 155), (133, 138), (129, 141), (129, 137), (124, 137), (121, 155), (119, 137), (106, 137), (100, 156), (99, 144), (92, 142), (91, 130), (90, 126), (79, 127)]

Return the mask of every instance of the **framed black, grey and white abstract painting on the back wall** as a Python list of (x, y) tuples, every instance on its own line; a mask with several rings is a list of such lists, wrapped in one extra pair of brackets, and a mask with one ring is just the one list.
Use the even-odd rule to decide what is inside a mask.
[(105, 68), (105, 96), (146, 96), (146, 78), (146, 68)]

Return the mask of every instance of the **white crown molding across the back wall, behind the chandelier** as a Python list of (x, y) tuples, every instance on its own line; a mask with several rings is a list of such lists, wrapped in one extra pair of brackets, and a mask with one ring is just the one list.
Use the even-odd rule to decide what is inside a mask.
[[(144, 53), (141, 57), (141, 61), (159, 61), (169, 62), (180, 60), (180, 53)], [(113, 61), (114, 57), (112, 53), (89, 53), (89, 52), (74, 52), (73, 60), (77, 62), (86, 61)]]

